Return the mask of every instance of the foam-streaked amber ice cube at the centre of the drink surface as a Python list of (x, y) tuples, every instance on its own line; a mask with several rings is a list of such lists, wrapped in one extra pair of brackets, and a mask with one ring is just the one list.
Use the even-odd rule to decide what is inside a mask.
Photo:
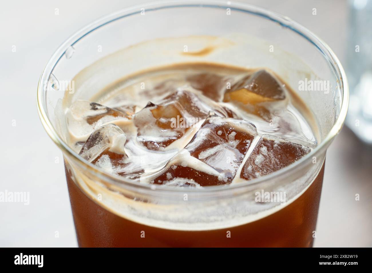
[(151, 150), (182, 149), (196, 133), (208, 112), (227, 117), (225, 108), (193, 91), (179, 89), (159, 104), (148, 103), (134, 116), (137, 140)]

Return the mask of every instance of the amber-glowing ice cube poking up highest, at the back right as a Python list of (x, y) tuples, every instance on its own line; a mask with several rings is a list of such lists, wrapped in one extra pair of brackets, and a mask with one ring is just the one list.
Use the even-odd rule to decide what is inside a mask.
[(266, 70), (260, 70), (235, 83), (223, 101), (269, 121), (274, 111), (283, 109), (285, 99), (283, 84)]

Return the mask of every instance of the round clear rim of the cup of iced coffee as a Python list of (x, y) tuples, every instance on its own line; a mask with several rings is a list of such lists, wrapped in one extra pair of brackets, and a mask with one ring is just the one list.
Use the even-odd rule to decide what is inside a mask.
[[(44, 98), (44, 90), (43, 90), (43, 82), (49, 79), (50, 74), (52, 73), (55, 65), (57, 65), (58, 61), (64, 56), (65, 51), (70, 47), (73, 46), (76, 42), (80, 39), (84, 38), (84, 36), (88, 35), (89, 33), (93, 32), (94, 30), (114, 22), (118, 19), (131, 16), (141, 12), (141, 8), (145, 8), (147, 12), (160, 10), (160, 9), (169, 9), (169, 8), (182, 8), (182, 7), (208, 7), (208, 8), (222, 8), (227, 9), (230, 8), (231, 10), (236, 10), (239, 12), (246, 12), (249, 14), (253, 14), (256, 16), (264, 17), (268, 20), (272, 20), (273, 22), (279, 23), (282, 27), (288, 28), (296, 32), (297, 34), (301, 35), (303, 38), (307, 39), (312, 45), (314, 45), (323, 55), (325, 58), (328, 58), (328, 62), (330, 62), (332, 68), (334, 69), (334, 73), (338, 76), (339, 79), (339, 86), (341, 91), (341, 107), (340, 113), (337, 120), (334, 122), (331, 130), (325, 136), (322, 142), (318, 143), (317, 147), (311, 150), (310, 153), (302, 157), (301, 159), (297, 160), (296, 162), (292, 163), (285, 168), (282, 168), (276, 172), (270, 173), (269, 175), (265, 175), (259, 178), (254, 178), (249, 181), (244, 181), (240, 183), (230, 184), (228, 187), (226, 185), (217, 185), (212, 187), (203, 187), (202, 190), (194, 189), (194, 188), (180, 188), (180, 187), (169, 187), (166, 185), (153, 185), (153, 184), (141, 184), (134, 181), (126, 180), (121, 176), (115, 176), (110, 173), (104, 172), (102, 169), (98, 168), (96, 165), (93, 165), (90, 162), (87, 162), (82, 157), (80, 157), (74, 150), (72, 150), (67, 143), (65, 143), (59, 136), (57, 131), (55, 130), (54, 126), (52, 125), (51, 121), (48, 118), (47, 111), (44, 108), (46, 105)], [(230, 2), (230, 1), (214, 1), (214, 0), (193, 0), (193, 1), (156, 1), (154, 3), (145, 3), (142, 5), (131, 6), (122, 10), (119, 10), (114, 13), (110, 13), (106, 16), (103, 16), (92, 23), (86, 25), (85, 27), (81, 28), (73, 35), (71, 35), (68, 39), (66, 39), (62, 45), (58, 47), (58, 49), (54, 52), (52, 57), (47, 62), (44, 70), (42, 71), (41, 77), (38, 82), (38, 91), (37, 91), (37, 107), (39, 117), (41, 122), (47, 131), (49, 137), (53, 140), (55, 144), (62, 150), (64, 154), (73, 157), (74, 159), (78, 160), (78, 162), (82, 163), (85, 167), (85, 170), (94, 172), (94, 175), (98, 176), (98, 178), (103, 179), (105, 181), (109, 181), (113, 184), (120, 185), (120, 186), (128, 186), (129, 188), (134, 189), (143, 189), (143, 190), (157, 190), (157, 191), (165, 191), (165, 192), (216, 192), (216, 191), (226, 191), (232, 189), (241, 189), (251, 185), (256, 185), (257, 183), (264, 183), (266, 181), (270, 181), (273, 178), (285, 174), (291, 173), (293, 170), (298, 168), (300, 165), (304, 164), (307, 160), (310, 160), (315, 154), (320, 153), (323, 149), (326, 149), (333, 138), (340, 132), (345, 118), (347, 114), (347, 108), (349, 104), (349, 86), (347, 83), (347, 78), (345, 71), (335, 55), (335, 53), (330, 49), (330, 47), (318, 36), (312, 33), (310, 30), (302, 26), (301, 24), (295, 22), (294, 20), (290, 19), (287, 16), (283, 16), (279, 13), (272, 12), (270, 10), (257, 7), (251, 4), (240, 3), (240, 2)]]

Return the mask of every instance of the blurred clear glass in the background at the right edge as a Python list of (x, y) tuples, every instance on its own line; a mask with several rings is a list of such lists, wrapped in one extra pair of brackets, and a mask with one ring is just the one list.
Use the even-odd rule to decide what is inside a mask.
[(350, 0), (349, 5), (346, 124), (363, 142), (372, 144), (372, 0)]

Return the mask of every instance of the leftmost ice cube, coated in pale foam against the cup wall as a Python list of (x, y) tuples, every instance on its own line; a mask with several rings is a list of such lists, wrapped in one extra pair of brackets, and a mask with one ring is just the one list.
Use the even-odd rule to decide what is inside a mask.
[[(112, 109), (104, 105), (86, 100), (77, 100), (67, 110), (66, 120), (70, 142), (85, 142), (92, 131), (102, 125), (122, 123), (122, 128), (131, 128), (131, 115), (119, 109)], [(129, 136), (128, 132), (128, 136)]]

